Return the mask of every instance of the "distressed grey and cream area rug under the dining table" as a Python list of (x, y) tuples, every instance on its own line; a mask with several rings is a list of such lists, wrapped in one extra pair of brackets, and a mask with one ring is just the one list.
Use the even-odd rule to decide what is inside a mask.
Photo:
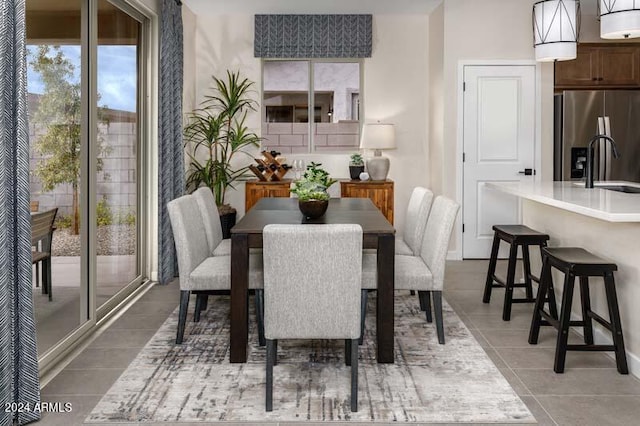
[(265, 412), (266, 350), (252, 322), (248, 362), (229, 363), (229, 299), (220, 296), (199, 323), (188, 322), (182, 345), (174, 344), (177, 310), (171, 314), (87, 422), (535, 423), (446, 302), (439, 345), (417, 296), (395, 298), (394, 364), (375, 360), (374, 308), (370, 300), (356, 413), (344, 342), (326, 340), (278, 342), (274, 410)]

